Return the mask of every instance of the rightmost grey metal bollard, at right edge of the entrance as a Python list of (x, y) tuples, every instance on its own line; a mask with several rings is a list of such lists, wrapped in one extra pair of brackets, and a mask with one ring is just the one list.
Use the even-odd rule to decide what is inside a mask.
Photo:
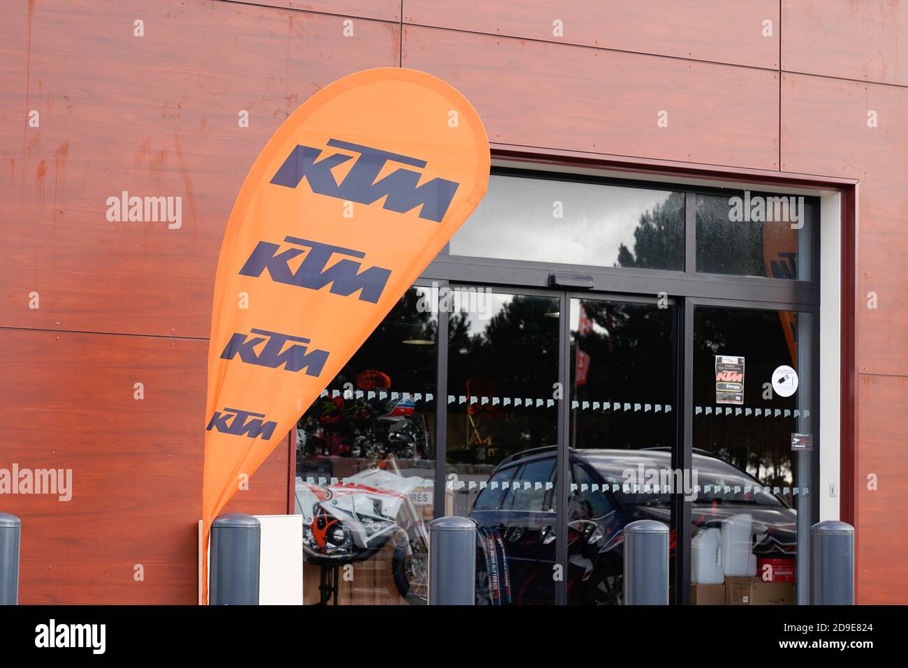
[(810, 604), (854, 605), (854, 526), (818, 522), (810, 527)]

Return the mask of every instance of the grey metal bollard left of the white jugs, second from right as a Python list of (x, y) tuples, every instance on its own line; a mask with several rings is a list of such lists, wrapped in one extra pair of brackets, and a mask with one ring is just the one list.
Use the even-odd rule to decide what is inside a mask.
[(668, 604), (668, 527), (639, 519), (624, 529), (625, 605)]

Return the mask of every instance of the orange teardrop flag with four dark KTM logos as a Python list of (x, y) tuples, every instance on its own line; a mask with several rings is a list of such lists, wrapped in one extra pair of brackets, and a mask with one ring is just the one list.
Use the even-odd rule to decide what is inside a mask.
[[(202, 555), (212, 521), (479, 204), (489, 140), (439, 79), (400, 68), (315, 93), (233, 204), (214, 281)], [(207, 601), (207, 557), (202, 601)]]

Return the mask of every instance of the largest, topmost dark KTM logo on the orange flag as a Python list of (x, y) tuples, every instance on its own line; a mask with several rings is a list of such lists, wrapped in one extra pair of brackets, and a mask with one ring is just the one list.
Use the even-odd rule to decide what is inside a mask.
[(421, 205), (419, 218), (436, 222), (444, 218), (454, 193), (457, 192), (459, 183), (447, 179), (432, 179), (418, 186), (422, 173), (403, 168), (376, 182), (387, 162), (400, 162), (419, 167), (421, 170), (425, 168), (426, 161), (419, 158), (410, 158), (400, 153), (381, 151), (337, 139), (329, 140), (328, 145), (360, 154), (341, 183), (334, 180), (331, 170), (351, 160), (352, 156), (332, 153), (319, 160), (321, 149), (300, 144), (297, 144), (284, 160), (271, 183), (285, 188), (296, 188), (303, 179), (306, 179), (312, 192), (360, 204), (371, 204), (387, 196), (385, 203), (381, 205), (382, 209), (406, 213)]

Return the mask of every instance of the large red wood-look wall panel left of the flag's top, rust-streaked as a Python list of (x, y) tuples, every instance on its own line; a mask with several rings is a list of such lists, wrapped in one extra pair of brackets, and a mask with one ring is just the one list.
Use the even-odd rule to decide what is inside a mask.
[[(211, 0), (43, 0), (4, 22), (7, 327), (207, 337), (222, 232), (262, 146), (311, 93), (400, 55), (398, 25), (344, 37), (336, 16)], [(107, 221), (123, 191), (182, 197), (182, 227)]]

